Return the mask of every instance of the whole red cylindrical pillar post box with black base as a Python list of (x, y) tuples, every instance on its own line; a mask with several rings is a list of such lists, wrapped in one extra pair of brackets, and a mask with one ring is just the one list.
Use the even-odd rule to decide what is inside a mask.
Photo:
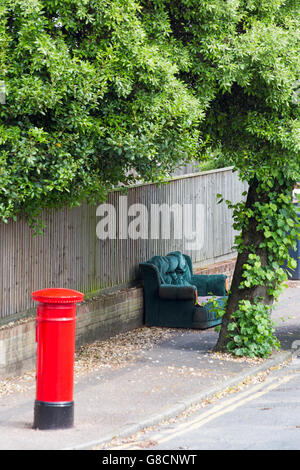
[(36, 318), (36, 429), (61, 429), (74, 421), (74, 358), (76, 304), (81, 292), (49, 288), (32, 293)]

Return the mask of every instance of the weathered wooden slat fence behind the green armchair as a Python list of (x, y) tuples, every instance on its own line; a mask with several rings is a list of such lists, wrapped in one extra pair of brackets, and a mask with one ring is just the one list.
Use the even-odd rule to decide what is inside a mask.
[[(83, 204), (45, 214), (43, 235), (33, 236), (23, 220), (1, 223), (0, 322), (28, 314), (33, 307), (31, 292), (37, 289), (69, 287), (92, 295), (113, 286), (130, 285), (139, 276), (139, 263), (154, 254), (180, 250), (189, 253), (198, 265), (229, 257), (235, 235), (232, 214), (225, 203), (217, 204), (216, 194), (235, 202), (241, 200), (244, 190), (245, 184), (237, 174), (224, 168), (182, 175), (167, 184), (137, 185), (127, 195), (116, 190), (107, 201), (115, 211), (110, 214), (112, 219), (109, 211), (104, 214), (103, 206), (98, 207), (97, 215), (97, 207)], [(147, 209), (140, 216), (148, 224), (150, 236), (146, 237), (144, 230), (144, 238), (126, 238), (128, 224), (137, 221), (137, 217), (126, 214), (125, 203), (128, 209), (135, 207), (133, 204), (142, 204)], [(189, 227), (201, 234), (196, 247), (190, 249), (186, 233), (185, 237), (174, 238), (174, 221), (170, 236), (151, 238), (151, 230), (154, 233), (149, 216), (151, 207), (162, 204), (200, 208), (198, 215), (191, 216), (192, 220), (184, 221), (184, 230)], [(99, 222), (105, 220), (100, 213), (108, 222), (116, 221), (116, 238), (98, 238)]]

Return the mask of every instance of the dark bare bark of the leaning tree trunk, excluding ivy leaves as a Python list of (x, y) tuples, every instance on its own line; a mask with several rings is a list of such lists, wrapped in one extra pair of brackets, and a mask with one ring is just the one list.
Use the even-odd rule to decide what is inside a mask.
[[(259, 195), (256, 192), (257, 189), (257, 181), (253, 180), (249, 185), (248, 196), (246, 201), (246, 208), (253, 207), (255, 202), (266, 202), (268, 197), (266, 194)], [(222, 319), (222, 326), (218, 338), (218, 342), (215, 346), (215, 351), (226, 351), (227, 343), (230, 341), (227, 338), (227, 327), (231, 321), (232, 314), (238, 309), (238, 304), (241, 300), (250, 300), (254, 301), (257, 297), (262, 297), (262, 302), (265, 305), (270, 305), (273, 303), (274, 298), (268, 294), (268, 287), (259, 285), (252, 288), (243, 288), (239, 289), (239, 285), (243, 280), (242, 273), (243, 273), (243, 265), (247, 263), (248, 256), (250, 253), (253, 253), (253, 250), (250, 251), (247, 247), (256, 247), (255, 253), (260, 256), (260, 261), (262, 266), (266, 266), (267, 264), (267, 251), (259, 248), (260, 243), (264, 240), (263, 232), (256, 230), (257, 222), (253, 218), (250, 221), (248, 228), (242, 232), (242, 237), (244, 241), (244, 250), (242, 253), (238, 254), (237, 262), (233, 274), (230, 294), (228, 297), (228, 303), (226, 308), (226, 313)]]

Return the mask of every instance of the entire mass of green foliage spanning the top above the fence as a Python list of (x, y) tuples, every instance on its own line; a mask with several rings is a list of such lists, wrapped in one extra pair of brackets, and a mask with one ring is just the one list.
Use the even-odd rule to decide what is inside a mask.
[(205, 149), (247, 180), (294, 180), (298, 33), (296, 0), (3, 0), (0, 217), (99, 200)]

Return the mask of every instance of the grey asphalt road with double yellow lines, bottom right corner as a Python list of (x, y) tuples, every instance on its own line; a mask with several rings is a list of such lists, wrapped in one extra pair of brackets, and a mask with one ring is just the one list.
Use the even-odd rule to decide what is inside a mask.
[(300, 353), (267, 378), (172, 422), (139, 433), (119, 450), (299, 450)]

